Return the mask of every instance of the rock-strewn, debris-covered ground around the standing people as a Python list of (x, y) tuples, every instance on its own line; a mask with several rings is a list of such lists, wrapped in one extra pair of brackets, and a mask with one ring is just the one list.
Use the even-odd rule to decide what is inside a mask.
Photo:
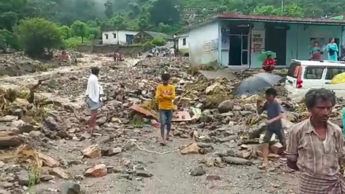
[[(270, 147), (269, 169), (258, 168), (265, 115), (256, 109), (263, 96), (233, 95), (254, 71), (201, 74), (205, 69), (191, 69), (185, 57), (138, 61), (115, 65), (107, 55), (83, 54), (76, 66), (2, 77), (0, 193), (296, 192), (297, 174), (278, 155), (279, 143)], [(100, 67), (105, 93), (93, 136), (85, 133), (83, 99), (91, 66)], [(164, 71), (176, 87), (175, 112), (184, 116), (176, 116), (172, 141), (160, 146), (154, 91)], [(300, 99), (286, 96), (283, 84), (276, 88), (288, 110), (287, 134), (307, 113)], [(333, 120), (342, 104), (338, 99)]]

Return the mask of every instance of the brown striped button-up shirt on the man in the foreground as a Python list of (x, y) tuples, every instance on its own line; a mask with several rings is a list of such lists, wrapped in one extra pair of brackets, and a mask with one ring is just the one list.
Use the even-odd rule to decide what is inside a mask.
[(343, 157), (343, 132), (332, 122), (327, 122), (326, 147), (315, 133), (310, 119), (297, 123), (291, 129), (285, 154), (297, 162), (299, 171), (319, 176), (339, 173), (339, 158)]

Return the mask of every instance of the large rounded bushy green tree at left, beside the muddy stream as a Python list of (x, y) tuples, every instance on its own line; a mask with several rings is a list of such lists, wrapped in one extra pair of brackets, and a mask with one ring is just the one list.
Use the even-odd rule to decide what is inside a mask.
[(22, 20), (15, 29), (18, 41), (25, 52), (40, 57), (45, 49), (59, 48), (62, 39), (59, 27), (43, 18)]

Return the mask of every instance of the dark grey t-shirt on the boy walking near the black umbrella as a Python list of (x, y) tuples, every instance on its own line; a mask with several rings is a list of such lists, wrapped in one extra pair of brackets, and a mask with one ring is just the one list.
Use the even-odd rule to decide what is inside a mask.
[[(263, 113), (263, 111), (267, 110), (267, 119), (273, 119), (277, 116), (279, 116), (279, 113), (284, 113), (284, 108), (282, 105), (280, 105), (277, 101), (274, 101), (273, 103), (269, 103), (266, 101), (265, 105), (258, 111), (259, 114)], [(282, 120), (279, 119), (271, 124), (268, 124), (268, 130), (281, 130), (283, 128), (282, 126)]]

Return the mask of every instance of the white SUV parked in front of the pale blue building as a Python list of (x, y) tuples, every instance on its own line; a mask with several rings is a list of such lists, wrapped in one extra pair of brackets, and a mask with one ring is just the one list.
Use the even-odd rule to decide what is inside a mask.
[(345, 83), (331, 84), (332, 78), (345, 71), (345, 63), (325, 60), (292, 60), (285, 88), (294, 95), (303, 96), (312, 88), (332, 89), (337, 97), (345, 98)]

